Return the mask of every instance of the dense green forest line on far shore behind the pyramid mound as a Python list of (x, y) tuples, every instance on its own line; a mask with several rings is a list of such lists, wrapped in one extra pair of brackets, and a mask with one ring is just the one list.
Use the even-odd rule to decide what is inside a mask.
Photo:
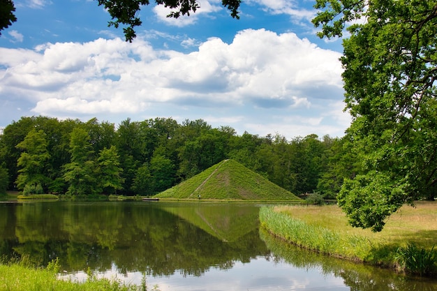
[(334, 198), (357, 171), (344, 138), (237, 135), (206, 121), (22, 117), (0, 135), (4, 191), (154, 195), (232, 158), (294, 194)]

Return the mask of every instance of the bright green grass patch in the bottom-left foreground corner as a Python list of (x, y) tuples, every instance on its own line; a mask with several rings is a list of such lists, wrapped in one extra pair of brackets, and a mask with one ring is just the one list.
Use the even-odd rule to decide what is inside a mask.
[[(8, 291), (147, 291), (145, 282), (141, 286), (124, 285), (117, 280), (97, 278), (89, 273), (87, 281), (77, 282), (58, 278), (56, 262), (46, 269), (29, 267), (23, 262), (0, 264), (0, 290)], [(156, 288), (151, 289), (151, 291)]]

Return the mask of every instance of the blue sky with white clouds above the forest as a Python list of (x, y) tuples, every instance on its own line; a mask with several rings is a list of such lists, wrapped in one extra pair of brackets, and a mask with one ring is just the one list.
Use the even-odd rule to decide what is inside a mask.
[(132, 43), (93, 0), (15, 0), (0, 36), (0, 127), (21, 117), (203, 119), (260, 137), (341, 137), (341, 40), (311, 24), (315, 0), (221, 0), (190, 17), (143, 6)]

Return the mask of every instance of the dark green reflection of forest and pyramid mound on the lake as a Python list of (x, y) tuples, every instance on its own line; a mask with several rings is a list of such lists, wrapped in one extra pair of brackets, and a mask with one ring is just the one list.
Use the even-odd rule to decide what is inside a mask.
[[(163, 207), (165, 206), (165, 207)], [(147, 203), (24, 203), (1, 205), (1, 255), (66, 271), (110, 269), (154, 276), (200, 276), (211, 266), (267, 255), (259, 239), (258, 208)], [(175, 214), (173, 214), (175, 213)], [(199, 226), (198, 226), (199, 225)], [(215, 235), (209, 234), (214, 232)]]

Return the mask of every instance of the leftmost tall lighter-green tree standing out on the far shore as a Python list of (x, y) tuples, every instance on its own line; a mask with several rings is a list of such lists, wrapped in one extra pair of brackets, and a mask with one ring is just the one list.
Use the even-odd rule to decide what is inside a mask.
[[(17, 160), (20, 167), (16, 183), (20, 190), (26, 187), (41, 188), (47, 184), (45, 176), (46, 161), (50, 158), (47, 151), (47, 140), (43, 130), (31, 130), (24, 140), (17, 144), (18, 149), (22, 149), (22, 154)], [(34, 193), (34, 191), (30, 191)], [(40, 191), (38, 191), (40, 192)]]

